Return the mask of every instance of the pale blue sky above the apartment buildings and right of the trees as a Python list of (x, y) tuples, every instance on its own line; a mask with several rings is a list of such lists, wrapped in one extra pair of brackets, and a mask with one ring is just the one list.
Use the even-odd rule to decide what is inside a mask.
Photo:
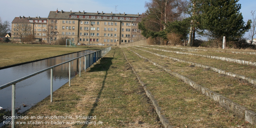
[[(85, 11), (85, 12), (106, 12), (106, 13), (126, 13), (141, 14), (145, 12), (145, 2), (150, 0), (2, 0), (0, 17), (2, 21), (8, 20), (10, 23), (14, 17), (48, 17), (50, 11)], [(244, 17), (244, 22), (252, 19), (251, 11), (256, 10), (256, 0), (240, 0), (240, 12)], [(117, 9), (115, 9), (115, 5)]]

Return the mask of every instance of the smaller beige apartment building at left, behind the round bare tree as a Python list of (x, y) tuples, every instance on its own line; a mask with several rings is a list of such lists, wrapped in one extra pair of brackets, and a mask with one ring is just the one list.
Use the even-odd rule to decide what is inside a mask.
[(33, 38), (47, 42), (48, 19), (41, 17), (15, 17), (12, 21), (12, 37), (34, 35)]

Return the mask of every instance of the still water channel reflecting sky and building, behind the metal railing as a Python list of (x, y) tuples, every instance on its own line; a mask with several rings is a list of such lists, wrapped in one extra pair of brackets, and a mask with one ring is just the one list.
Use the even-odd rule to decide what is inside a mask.
[[(54, 66), (56, 64), (69, 61), (71, 59), (86, 55), (94, 51), (82, 51), (72, 53), (69, 55), (63, 55), (54, 58), (48, 58), (41, 61), (36, 61), (28, 64), (22, 64), (15, 67), (10, 67), (0, 70), (0, 85), (12, 82), (24, 76), (28, 76), (37, 71)], [(86, 56), (86, 68), (89, 67), (89, 59), (93, 60), (93, 57)], [(85, 69), (85, 57), (81, 58), (81, 70)], [(79, 74), (79, 59), (71, 62), (71, 78), (76, 74)], [(16, 97), (15, 108), (21, 108), (18, 112), (24, 112), (31, 108), (33, 105), (43, 100), (50, 95), (50, 76), (51, 71), (47, 70), (38, 75), (32, 76), (26, 80), (16, 83)], [(53, 68), (53, 91), (60, 88), (62, 85), (68, 82), (69, 78), (69, 66), (68, 63)], [(49, 100), (50, 103), (50, 100)], [(26, 107), (23, 107), (26, 105)], [(0, 106), (3, 109), (11, 110), (12, 106), (12, 86), (0, 90)], [(2, 124), (2, 123), (1, 123)], [(0, 125), (1, 127), (1, 125)]]

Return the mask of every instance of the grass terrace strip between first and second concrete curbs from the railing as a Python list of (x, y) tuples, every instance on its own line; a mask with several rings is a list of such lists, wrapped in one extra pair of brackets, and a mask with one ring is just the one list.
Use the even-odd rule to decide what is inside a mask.
[[(254, 127), (215, 103), (211, 98), (198, 93), (183, 81), (139, 58), (128, 49), (123, 49), (128, 60), (141, 76), (142, 81), (147, 83), (148, 89), (155, 96), (171, 125), (175, 127), (216, 128)], [(152, 60), (158, 64), (163, 59), (145, 52), (139, 52), (139, 54), (149, 59), (155, 58)], [(165, 63), (171, 67), (174, 66), (175, 62), (168, 61)], [(185, 68), (186, 64), (181, 64), (181, 67)]]

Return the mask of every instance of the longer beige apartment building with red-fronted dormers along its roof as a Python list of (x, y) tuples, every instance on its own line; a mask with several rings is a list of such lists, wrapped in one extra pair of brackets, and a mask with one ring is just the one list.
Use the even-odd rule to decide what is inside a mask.
[(56, 30), (55, 38), (71, 39), (75, 43), (120, 45), (137, 36), (139, 14), (50, 11), (48, 25)]

